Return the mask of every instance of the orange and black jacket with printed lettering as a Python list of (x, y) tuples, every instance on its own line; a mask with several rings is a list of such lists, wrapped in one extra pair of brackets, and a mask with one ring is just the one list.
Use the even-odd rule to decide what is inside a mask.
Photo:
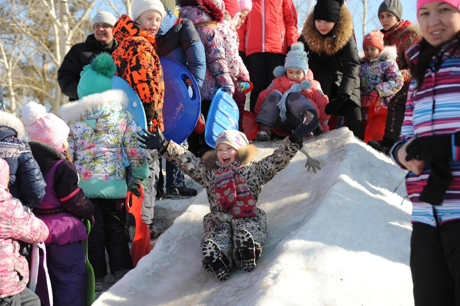
[(125, 79), (141, 98), (147, 123), (163, 131), (163, 96), (165, 83), (160, 59), (155, 52), (155, 36), (127, 15), (122, 15), (115, 23), (112, 33), (119, 41), (112, 53), (118, 66), (117, 75)]

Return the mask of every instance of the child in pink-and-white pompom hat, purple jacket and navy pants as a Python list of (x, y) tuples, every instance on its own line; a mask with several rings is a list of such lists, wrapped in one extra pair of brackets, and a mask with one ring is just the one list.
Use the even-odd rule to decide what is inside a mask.
[(94, 223), (94, 208), (78, 186), (75, 165), (68, 157), (69, 127), (35, 102), (23, 107), (22, 116), (30, 149), (46, 182), (45, 197), (34, 208), (34, 214), (49, 229), (46, 265), (53, 305), (85, 305), (87, 277), (82, 241), (88, 235), (82, 219)]

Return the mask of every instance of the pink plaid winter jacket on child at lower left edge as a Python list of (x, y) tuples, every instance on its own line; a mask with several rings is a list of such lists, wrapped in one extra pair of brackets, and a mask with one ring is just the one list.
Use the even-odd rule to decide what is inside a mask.
[(29, 265), (19, 255), (19, 243), (45, 241), (48, 228), (24, 212), (20, 202), (0, 185), (0, 299), (23, 292), (29, 282)]

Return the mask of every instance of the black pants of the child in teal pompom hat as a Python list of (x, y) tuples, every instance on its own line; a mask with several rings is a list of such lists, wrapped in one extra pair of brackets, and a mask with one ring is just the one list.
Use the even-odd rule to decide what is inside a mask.
[(106, 248), (110, 273), (123, 268), (132, 269), (128, 235), (119, 208), (124, 199), (90, 200), (94, 206), (94, 225), (88, 237), (88, 259), (94, 269), (94, 277), (107, 275)]

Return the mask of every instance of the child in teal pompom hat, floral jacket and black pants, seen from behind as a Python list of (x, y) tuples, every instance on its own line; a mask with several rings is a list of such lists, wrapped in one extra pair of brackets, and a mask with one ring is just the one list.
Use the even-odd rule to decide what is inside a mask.
[[(88, 259), (94, 270), (96, 291), (103, 289), (107, 275), (105, 249), (115, 281), (132, 269), (128, 236), (119, 205), (127, 191), (139, 196), (139, 185), (149, 176), (147, 158), (136, 138), (138, 125), (123, 110), (129, 103), (122, 90), (112, 90), (116, 65), (108, 54), (98, 55), (81, 72), (80, 100), (61, 106), (59, 114), (68, 122), (68, 153), (80, 177), (78, 185), (94, 205), (95, 223), (88, 239)], [(69, 130), (68, 130), (69, 131)], [(122, 153), (131, 166), (126, 184)]]

